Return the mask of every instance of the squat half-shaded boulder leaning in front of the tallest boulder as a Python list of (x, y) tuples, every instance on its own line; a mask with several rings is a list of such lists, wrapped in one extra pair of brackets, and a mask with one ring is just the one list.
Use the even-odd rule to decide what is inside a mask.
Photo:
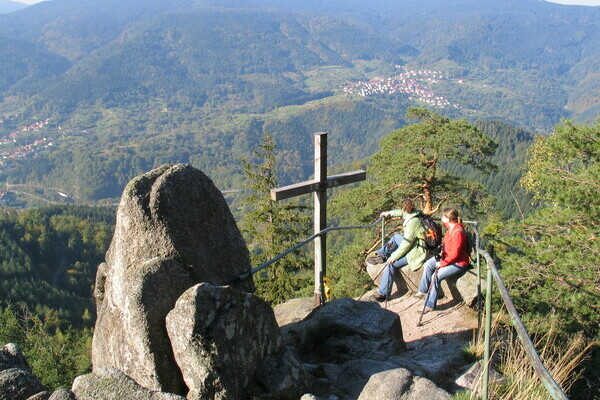
[[(187, 290), (167, 316), (188, 399), (298, 398), (306, 372), (283, 346), (271, 307), (207, 283)], [(260, 389), (259, 389), (260, 388)]]

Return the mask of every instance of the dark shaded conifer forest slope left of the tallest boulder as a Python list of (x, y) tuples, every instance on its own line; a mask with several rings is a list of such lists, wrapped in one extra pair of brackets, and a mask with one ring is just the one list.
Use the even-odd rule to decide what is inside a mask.
[(50, 207), (0, 216), (0, 304), (24, 305), (48, 327), (93, 313), (97, 266), (112, 237), (112, 211)]

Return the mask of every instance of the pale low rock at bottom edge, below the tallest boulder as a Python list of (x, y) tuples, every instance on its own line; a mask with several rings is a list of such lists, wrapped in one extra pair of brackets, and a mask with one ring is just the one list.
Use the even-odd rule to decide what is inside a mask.
[(182, 396), (141, 387), (113, 368), (98, 368), (91, 374), (78, 376), (71, 391), (77, 400), (184, 400)]

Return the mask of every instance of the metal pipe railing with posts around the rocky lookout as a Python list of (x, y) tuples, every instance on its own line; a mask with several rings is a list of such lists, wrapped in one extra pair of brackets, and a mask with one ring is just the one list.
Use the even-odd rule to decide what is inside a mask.
[[(285, 257), (287, 254), (293, 252), (294, 250), (299, 249), (300, 247), (310, 243), (316, 237), (325, 235), (331, 231), (338, 230), (348, 230), (348, 229), (365, 229), (372, 228), (376, 226), (379, 222), (381, 222), (381, 244), (382, 247), (385, 244), (385, 218), (379, 218), (377, 221), (368, 225), (352, 225), (352, 226), (334, 226), (323, 229), (322, 231), (315, 233), (314, 235), (306, 238), (302, 242), (299, 242), (295, 246), (290, 247), (289, 249), (283, 251), (272, 259), (262, 263), (261, 265), (252, 268), (243, 274), (238, 276), (239, 279), (247, 279), (258, 271), (268, 267), (273, 264), (277, 260)], [(560, 386), (556, 383), (554, 378), (550, 375), (544, 363), (540, 359), (527, 330), (525, 329), (525, 325), (523, 321), (519, 317), (519, 313), (517, 312), (510, 295), (508, 294), (508, 290), (504, 285), (504, 281), (502, 277), (498, 273), (498, 269), (496, 268), (496, 264), (492, 258), (492, 256), (485, 250), (480, 248), (480, 237), (478, 231), (478, 222), (477, 221), (463, 221), (463, 223), (473, 225), (473, 231), (475, 233), (475, 249), (476, 249), (476, 265), (477, 265), (477, 298), (481, 298), (481, 267), (480, 267), (480, 255), (483, 256), (486, 260), (487, 264), (487, 277), (486, 277), (486, 296), (485, 296), (485, 351), (484, 351), (484, 360), (483, 360), (483, 379), (482, 379), (482, 399), (487, 400), (488, 395), (488, 386), (489, 386), (489, 367), (490, 367), (490, 337), (491, 337), (491, 321), (492, 321), (492, 282), (496, 281), (496, 285), (498, 286), (498, 290), (500, 291), (500, 296), (502, 297), (502, 301), (504, 302), (506, 309), (511, 318), (511, 322), (515, 327), (517, 332), (517, 337), (523, 344), (525, 352), (527, 353), (529, 360), (543, 383), (544, 387), (548, 391), (549, 395), (555, 400), (568, 400), (565, 393), (562, 391)], [(481, 312), (481, 309), (479, 309)], [(480, 321), (481, 318), (478, 318)], [(478, 330), (481, 329), (480, 323), (478, 323)]]

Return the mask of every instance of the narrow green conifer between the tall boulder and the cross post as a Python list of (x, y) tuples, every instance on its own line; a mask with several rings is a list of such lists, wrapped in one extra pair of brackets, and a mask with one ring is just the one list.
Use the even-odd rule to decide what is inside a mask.
[[(308, 236), (309, 217), (296, 201), (271, 201), (277, 187), (275, 143), (267, 134), (255, 150), (256, 164), (243, 160), (245, 184), (250, 193), (242, 200), (240, 228), (254, 266), (272, 259)], [(272, 304), (294, 298), (310, 284), (310, 261), (305, 249), (297, 250), (255, 275), (256, 293)]]

